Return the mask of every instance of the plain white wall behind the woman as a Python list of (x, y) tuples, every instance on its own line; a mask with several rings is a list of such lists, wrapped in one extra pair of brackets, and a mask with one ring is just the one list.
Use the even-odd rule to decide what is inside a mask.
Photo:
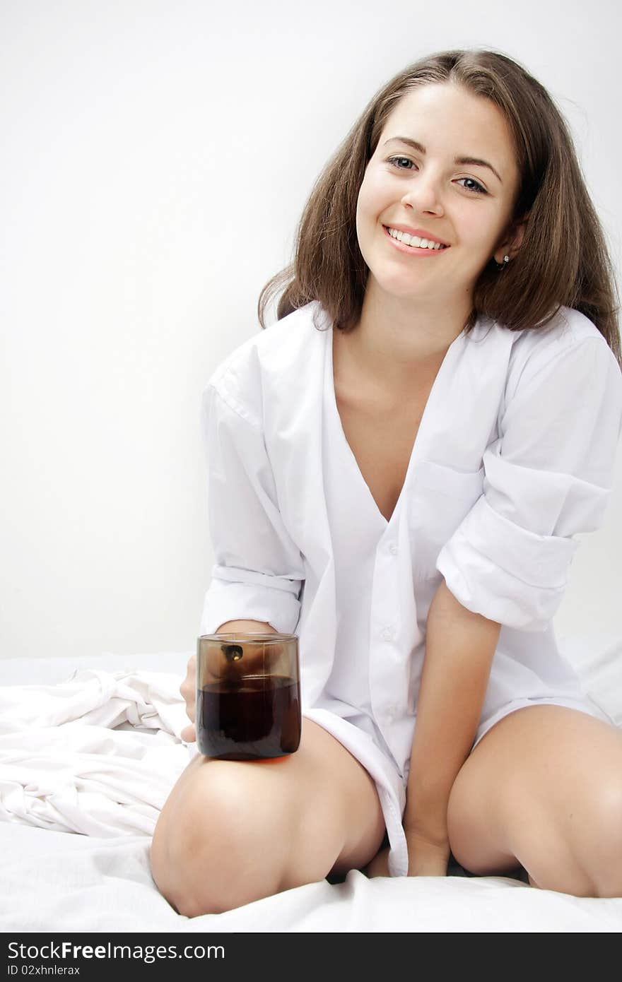
[[(201, 392), (260, 330), (328, 157), (422, 55), (491, 47), (547, 87), (620, 283), (613, 0), (3, 0), (0, 21), (0, 657), (195, 647)], [(621, 629), (621, 488), (619, 447), (560, 635)]]

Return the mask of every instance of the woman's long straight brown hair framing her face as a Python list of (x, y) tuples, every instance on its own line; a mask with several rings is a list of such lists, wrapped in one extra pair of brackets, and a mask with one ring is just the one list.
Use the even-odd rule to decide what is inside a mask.
[[(419, 85), (453, 82), (503, 113), (521, 180), (509, 229), (527, 216), (523, 243), (506, 268), (481, 271), (467, 333), (483, 314), (513, 331), (544, 327), (562, 304), (595, 324), (622, 367), (613, 264), (568, 124), (546, 89), (518, 62), (492, 50), (441, 51), (387, 82), (315, 181), (300, 220), (294, 261), (265, 284), (257, 313), (287, 284), (277, 320), (318, 300), (333, 325), (356, 327), (368, 266), (356, 229), (359, 191), (388, 115)], [(288, 282), (289, 281), (289, 282)]]

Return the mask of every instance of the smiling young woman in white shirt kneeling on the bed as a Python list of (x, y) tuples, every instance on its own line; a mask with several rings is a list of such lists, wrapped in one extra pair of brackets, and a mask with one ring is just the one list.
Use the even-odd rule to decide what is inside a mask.
[[(545, 89), (493, 51), (400, 73), (313, 188), (262, 327), (284, 283), (203, 396), (200, 632), (299, 634), (302, 740), (191, 760), (158, 889), (195, 916), (453, 855), (622, 896), (622, 735), (552, 624), (613, 483), (618, 307)], [(194, 658), (181, 691), (194, 721)]]

